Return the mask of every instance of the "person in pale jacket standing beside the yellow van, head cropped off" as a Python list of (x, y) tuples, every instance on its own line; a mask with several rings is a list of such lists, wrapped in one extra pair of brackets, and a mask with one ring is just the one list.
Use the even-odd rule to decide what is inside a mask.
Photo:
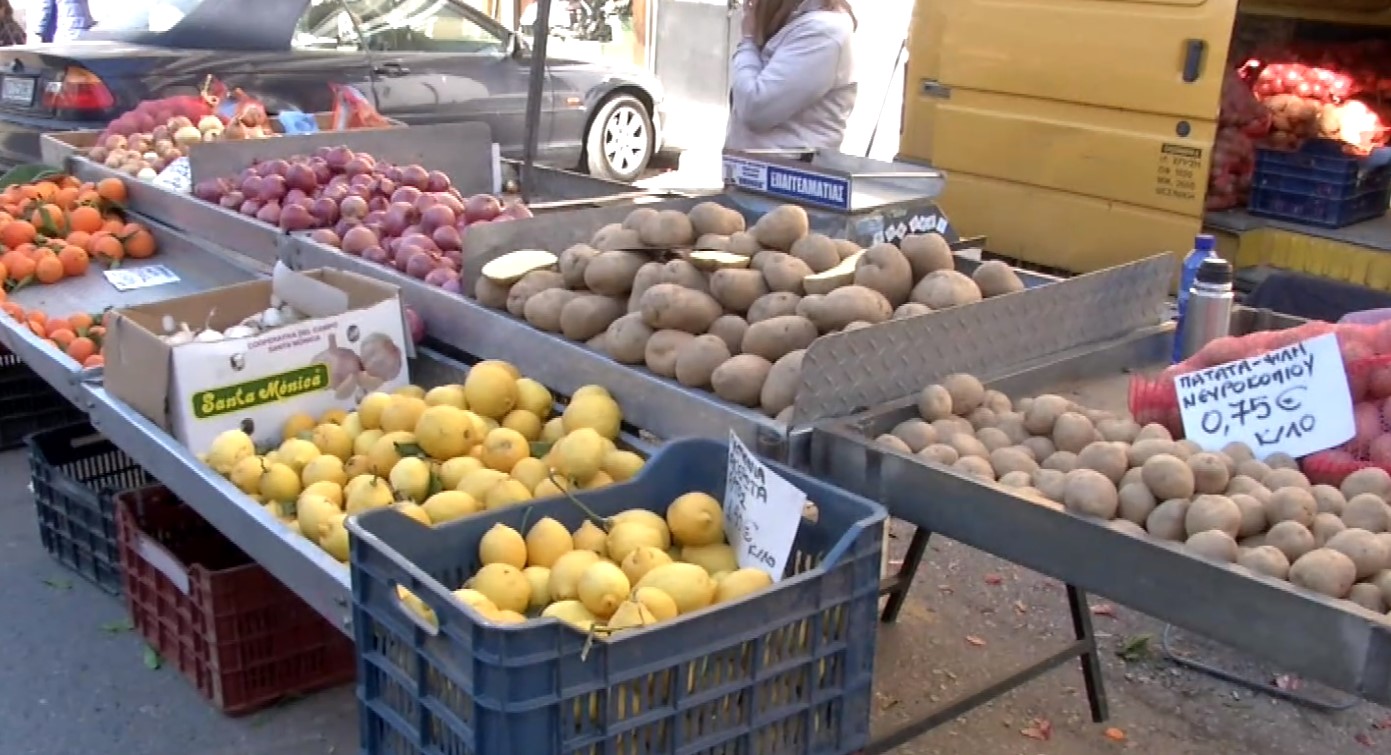
[(729, 64), (727, 149), (839, 149), (855, 107), (846, 0), (747, 0)]

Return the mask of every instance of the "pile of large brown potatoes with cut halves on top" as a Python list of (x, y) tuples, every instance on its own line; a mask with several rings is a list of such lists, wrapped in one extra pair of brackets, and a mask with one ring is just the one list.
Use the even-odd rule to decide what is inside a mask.
[(480, 303), (785, 421), (821, 335), (1024, 289), (999, 261), (957, 273), (940, 235), (860, 249), (791, 204), (747, 229), (714, 202), (643, 207), (559, 257), (516, 254), (484, 268)]

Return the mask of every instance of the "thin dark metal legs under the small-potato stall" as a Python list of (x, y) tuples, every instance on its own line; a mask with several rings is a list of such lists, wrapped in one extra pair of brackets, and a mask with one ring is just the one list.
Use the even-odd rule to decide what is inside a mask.
[[(908, 542), (908, 552), (904, 555), (903, 566), (899, 567), (899, 571), (893, 577), (887, 577), (879, 584), (879, 594), (889, 595), (889, 602), (885, 605), (883, 613), (879, 616), (882, 623), (887, 624), (897, 620), (899, 610), (907, 599), (908, 587), (912, 584), (912, 577), (918, 571), (918, 566), (922, 563), (922, 556), (926, 553), (928, 541), (931, 538), (931, 531), (925, 527), (918, 527), (912, 534), (912, 539)], [(858, 755), (879, 755), (890, 752), (892, 749), (926, 734), (938, 726), (942, 726), (943, 723), (968, 713), (979, 705), (999, 698), (1015, 687), (1034, 681), (1074, 658), (1082, 663), (1082, 684), (1086, 688), (1086, 704), (1092, 711), (1092, 720), (1096, 723), (1106, 720), (1110, 712), (1107, 711), (1106, 704), (1106, 687), (1102, 680), (1102, 659), (1096, 648), (1096, 633), (1092, 630), (1092, 610), (1086, 603), (1086, 592), (1078, 587), (1067, 585), (1067, 608), (1072, 619), (1072, 642), (1034, 662), (1032, 665), (1011, 673), (1010, 676), (1002, 677), (990, 684), (986, 684), (985, 687), (979, 687), (972, 692), (961, 695), (921, 719), (908, 722), (889, 734), (869, 742), (869, 747), (860, 751)]]

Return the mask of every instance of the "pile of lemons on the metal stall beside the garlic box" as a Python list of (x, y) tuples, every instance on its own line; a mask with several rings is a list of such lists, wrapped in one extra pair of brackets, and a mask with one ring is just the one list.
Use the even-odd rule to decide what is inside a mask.
[(239, 430), (200, 459), (339, 562), (348, 516), (394, 508), (421, 524), (629, 480), (643, 457), (619, 449), (623, 414), (600, 385), (559, 416), (540, 382), (498, 360), (462, 384), (374, 392), (355, 412), (292, 416), (284, 442), (257, 453)]

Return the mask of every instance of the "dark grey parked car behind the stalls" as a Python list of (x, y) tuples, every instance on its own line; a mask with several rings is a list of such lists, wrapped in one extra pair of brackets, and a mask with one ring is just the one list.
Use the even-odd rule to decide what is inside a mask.
[[(483, 121), (524, 139), (530, 46), (463, 0), (128, 0), (82, 40), (0, 49), (0, 161), (43, 132), (100, 129), (207, 75), (271, 113), (325, 111), (349, 83), (405, 124)], [(537, 160), (633, 181), (662, 146), (662, 93), (640, 71), (548, 60)]]

